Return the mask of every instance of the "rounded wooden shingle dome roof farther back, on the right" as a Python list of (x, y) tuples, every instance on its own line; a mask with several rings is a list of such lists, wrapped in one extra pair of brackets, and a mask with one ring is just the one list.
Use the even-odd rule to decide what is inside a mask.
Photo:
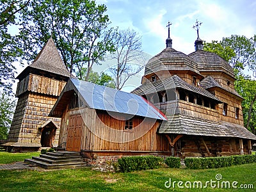
[(203, 50), (198, 50), (195, 52), (192, 52), (189, 54), (191, 58), (193, 58), (197, 65), (198, 65), (198, 70), (200, 72), (204, 71), (216, 71), (216, 72), (225, 72), (231, 77), (234, 76), (234, 70), (232, 67), (228, 64), (227, 61), (223, 60), (218, 54), (214, 52), (208, 52), (208, 51), (203, 51)]

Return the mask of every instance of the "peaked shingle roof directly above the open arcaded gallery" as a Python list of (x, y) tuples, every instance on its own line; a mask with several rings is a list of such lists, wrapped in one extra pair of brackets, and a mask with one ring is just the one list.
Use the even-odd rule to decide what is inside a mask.
[(174, 75), (172, 77), (168, 77), (164, 79), (163, 81), (156, 81), (156, 82), (150, 82), (147, 84), (142, 84), (138, 88), (132, 91), (132, 93), (135, 93), (137, 95), (147, 95), (149, 93), (155, 93), (160, 92), (164, 90), (169, 90), (173, 88), (182, 88), (184, 90), (188, 90), (190, 92), (198, 93), (199, 95), (203, 95), (205, 97), (217, 100), (218, 102), (221, 102), (220, 99), (215, 97), (212, 93), (208, 92), (204, 88), (199, 88), (197, 86), (194, 86), (192, 84), (186, 83), (186, 81), (182, 80), (179, 76)]

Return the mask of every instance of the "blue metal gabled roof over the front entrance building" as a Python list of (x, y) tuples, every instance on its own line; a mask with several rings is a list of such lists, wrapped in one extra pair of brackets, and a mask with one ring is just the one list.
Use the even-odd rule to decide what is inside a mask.
[[(166, 120), (165, 115), (161, 111), (140, 95), (122, 92), (73, 78), (68, 80), (68, 83), (65, 88), (63, 88), (49, 116), (54, 116), (55, 109), (60, 110), (62, 97), (70, 90), (74, 90), (79, 99), (81, 99), (88, 108)], [(65, 104), (67, 105), (67, 102), (65, 102)], [(62, 108), (64, 109), (65, 106)]]

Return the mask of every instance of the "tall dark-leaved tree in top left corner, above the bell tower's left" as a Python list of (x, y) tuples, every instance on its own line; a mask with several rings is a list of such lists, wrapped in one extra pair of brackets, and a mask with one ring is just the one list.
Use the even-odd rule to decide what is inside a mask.
[(25, 8), (30, 0), (1, 0), (0, 4), (0, 88), (9, 95), (12, 93), (15, 66), (13, 61), (20, 56), (15, 36), (8, 33), (8, 26), (15, 24), (16, 13)]

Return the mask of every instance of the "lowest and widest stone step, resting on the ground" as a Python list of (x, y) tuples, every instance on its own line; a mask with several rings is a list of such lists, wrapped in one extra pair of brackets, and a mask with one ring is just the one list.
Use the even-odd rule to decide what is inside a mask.
[(85, 162), (50, 164), (50, 163), (45, 163), (45, 162), (38, 161), (38, 160), (35, 160), (35, 159), (25, 159), (24, 162), (29, 163), (29, 164), (33, 164), (35, 166), (40, 166), (40, 167), (45, 168), (47, 170), (56, 169), (56, 168), (77, 168), (77, 167), (86, 166)]

